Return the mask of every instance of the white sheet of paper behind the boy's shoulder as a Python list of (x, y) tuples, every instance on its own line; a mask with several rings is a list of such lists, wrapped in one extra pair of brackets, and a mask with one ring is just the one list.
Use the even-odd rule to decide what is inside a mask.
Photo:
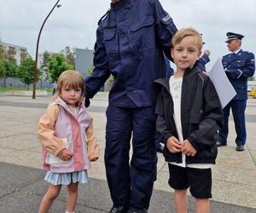
[(227, 78), (220, 58), (212, 66), (209, 77), (218, 93), (221, 107), (224, 108), (235, 97), (236, 90)]

